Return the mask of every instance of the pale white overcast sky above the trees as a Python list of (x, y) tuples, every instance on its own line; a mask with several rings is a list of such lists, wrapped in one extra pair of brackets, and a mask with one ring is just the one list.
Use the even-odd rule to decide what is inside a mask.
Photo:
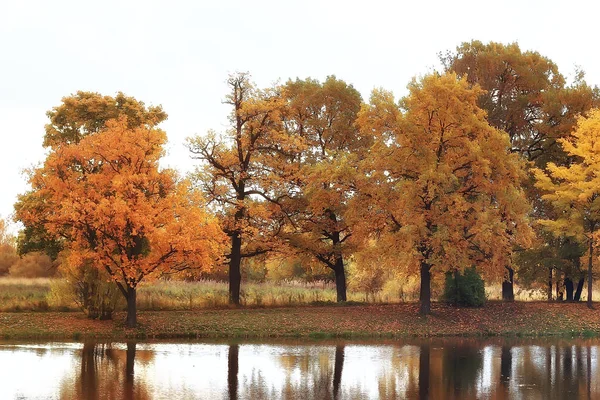
[[(518, 42), (600, 85), (597, 16), (582, 1), (0, 1), (0, 217), (44, 159), (46, 111), (78, 90), (162, 105), (162, 162), (191, 171), (185, 139), (227, 128), (228, 74), (259, 87), (328, 75), (396, 96), (473, 39)], [(13, 229), (17, 229), (14, 227)]]

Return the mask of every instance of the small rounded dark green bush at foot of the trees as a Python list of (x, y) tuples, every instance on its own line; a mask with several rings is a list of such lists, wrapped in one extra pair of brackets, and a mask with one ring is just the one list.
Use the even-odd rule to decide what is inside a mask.
[(485, 285), (475, 267), (447, 272), (442, 300), (457, 306), (481, 307), (485, 303)]

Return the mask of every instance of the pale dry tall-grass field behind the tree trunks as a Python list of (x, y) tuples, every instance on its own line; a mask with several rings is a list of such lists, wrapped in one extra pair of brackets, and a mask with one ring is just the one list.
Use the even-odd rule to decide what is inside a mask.
[[(77, 304), (56, 296), (53, 286), (59, 279), (50, 278), (0, 278), (0, 312), (24, 311), (77, 311)], [(489, 300), (499, 300), (500, 285), (486, 288)], [(418, 287), (406, 285), (396, 290), (374, 294), (348, 290), (351, 302), (388, 304), (416, 301)], [(435, 298), (435, 291), (434, 291)], [(585, 295), (584, 295), (585, 298)], [(600, 299), (600, 293), (595, 292)], [(335, 286), (330, 282), (279, 282), (244, 283), (242, 304), (250, 307), (280, 307), (335, 302)], [(542, 291), (515, 288), (518, 301), (545, 299)], [(181, 282), (157, 281), (142, 283), (138, 291), (138, 309), (141, 311), (194, 311), (211, 308), (227, 308), (227, 283), (216, 281)], [(123, 304), (124, 307), (124, 304)]]

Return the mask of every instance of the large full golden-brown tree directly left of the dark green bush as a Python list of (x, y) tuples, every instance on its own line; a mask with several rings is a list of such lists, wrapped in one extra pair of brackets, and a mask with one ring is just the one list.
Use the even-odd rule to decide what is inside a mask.
[(476, 265), (502, 274), (512, 246), (529, 239), (528, 207), (522, 165), (477, 106), (480, 88), (434, 74), (409, 90), (401, 107), (376, 91), (359, 116), (377, 137), (362, 208), (380, 241), (419, 273), (420, 313), (429, 314), (432, 272)]

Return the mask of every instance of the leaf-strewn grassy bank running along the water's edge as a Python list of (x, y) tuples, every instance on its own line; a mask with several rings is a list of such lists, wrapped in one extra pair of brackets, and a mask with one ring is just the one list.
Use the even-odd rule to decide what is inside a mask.
[(434, 303), (419, 317), (415, 303), (280, 308), (143, 311), (139, 327), (80, 312), (0, 313), (4, 339), (407, 338), (442, 336), (599, 336), (600, 304), (489, 302), (482, 308)]

